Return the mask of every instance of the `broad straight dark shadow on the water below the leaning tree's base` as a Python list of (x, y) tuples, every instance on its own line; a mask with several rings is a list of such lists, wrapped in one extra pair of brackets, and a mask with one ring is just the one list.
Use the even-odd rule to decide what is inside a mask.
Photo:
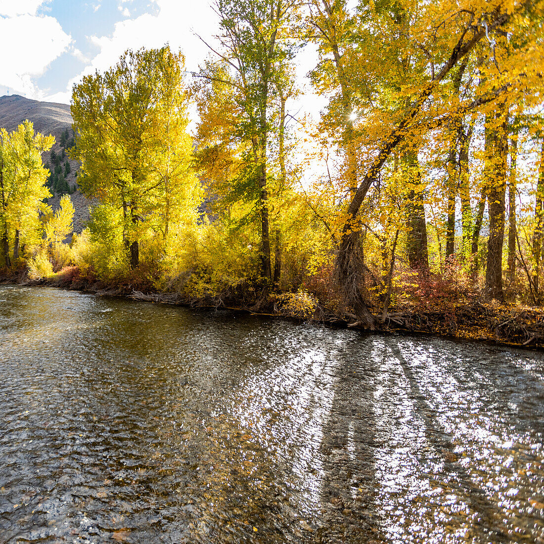
[[(349, 342), (349, 339), (348, 341)], [(317, 542), (382, 542), (373, 504), (374, 384), (361, 344), (338, 354), (331, 410), (323, 424), (322, 512)]]

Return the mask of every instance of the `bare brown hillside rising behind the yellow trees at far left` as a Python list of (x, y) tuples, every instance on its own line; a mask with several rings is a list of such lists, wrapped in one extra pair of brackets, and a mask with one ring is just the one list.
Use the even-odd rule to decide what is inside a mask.
[[(72, 116), (68, 104), (59, 104), (55, 102), (40, 102), (39, 100), (30, 100), (24, 96), (10, 95), (0, 97), (0, 127), (13, 131), (24, 120), (28, 119), (34, 123), (34, 130), (42, 134), (52, 134), (55, 137), (53, 151), (56, 154), (63, 153), (63, 147), (60, 145), (61, 134), (66, 128), (71, 130)], [(44, 164), (51, 162), (50, 153), (44, 153), (42, 160)], [(73, 187), (76, 183), (76, 172), (79, 164), (75, 160), (67, 157), (64, 162), (70, 163), (70, 174), (66, 176), (66, 181)], [(86, 221), (89, 220), (89, 201), (83, 194), (76, 190), (71, 195), (73, 206), (75, 208), (73, 225), (76, 232), (81, 232)], [(60, 195), (54, 195), (48, 203), (56, 209), (60, 200)]]

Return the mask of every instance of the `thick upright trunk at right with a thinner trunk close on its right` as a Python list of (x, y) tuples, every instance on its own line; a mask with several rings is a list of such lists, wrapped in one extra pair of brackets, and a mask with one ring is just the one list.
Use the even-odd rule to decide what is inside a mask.
[[(500, 109), (503, 109), (501, 107)], [(502, 120), (493, 133), (492, 176), (489, 189), (489, 238), (485, 269), (485, 296), (504, 300), (503, 295), (503, 242), (504, 199), (508, 164), (508, 112), (498, 111), (496, 119)]]

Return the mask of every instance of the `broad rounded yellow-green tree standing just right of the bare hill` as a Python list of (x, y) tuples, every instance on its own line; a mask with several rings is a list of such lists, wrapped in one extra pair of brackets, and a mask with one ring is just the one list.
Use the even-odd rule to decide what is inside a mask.
[(187, 204), (184, 196), (195, 188), (183, 61), (168, 46), (126, 51), (112, 69), (85, 76), (73, 89), (78, 183), (121, 214), (132, 269), (144, 232), (168, 237), (172, 218)]

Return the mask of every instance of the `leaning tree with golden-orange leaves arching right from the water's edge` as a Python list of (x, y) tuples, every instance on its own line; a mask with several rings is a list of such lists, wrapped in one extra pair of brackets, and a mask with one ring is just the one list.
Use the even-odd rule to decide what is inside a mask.
[[(415, 2), (401, 3), (409, 5)], [(336, 2), (333, 5), (341, 4)], [(367, 13), (373, 13), (372, 3), (364, 5), (367, 7)], [(415, 14), (411, 32), (412, 48), (422, 49), (428, 69), (413, 71), (413, 78), (406, 81), (394, 97), (395, 100), (400, 100), (403, 96), (408, 99), (403, 109), (384, 110), (383, 98), (380, 100), (376, 90), (371, 89), (371, 98), (374, 100), (367, 102), (364, 112), (360, 115), (360, 129), (356, 134), (358, 145), (364, 149), (361, 159), (358, 160), (360, 174), (357, 177), (357, 187), (350, 191), (349, 202), (344, 209), (345, 215), (336, 261), (337, 275), (345, 299), (354, 308), (360, 322), (371, 328), (374, 327), (374, 318), (368, 312), (358, 289), (360, 285), (358, 232), (361, 228), (361, 206), (369, 189), (379, 180), (382, 166), (391, 160), (399, 144), (411, 146), (421, 134), (438, 129), (483, 104), (492, 103), (497, 100), (497, 97), (508, 94), (511, 101), (514, 101), (516, 97), (526, 94), (528, 85), (540, 85), (538, 82), (538, 74), (541, 71), (539, 60), (527, 66), (522, 63), (521, 57), (527, 55), (529, 51), (533, 51), (531, 55), (537, 51), (539, 53), (536, 57), (540, 59), (542, 30), (536, 21), (539, 18), (538, 14), (541, 15), (542, 2), (466, 0), (452, 5), (444, 0), (437, 4), (418, 3), (417, 10), (412, 8), (412, 11)], [(332, 9), (321, 10), (320, 21), (331, 20), (332, 13)], [(527, 14), (531, 17), (527, 17)], [(319, 26), (323, 28), (325, 24)], [(361, 34), (370, 33), (370, 40), (366, 40), (368, 43), (372, 43), (372, 39), (374, 42), (380, 42), (379, 36), (376, 38), (373, 34), (374, 29), (369, 20), (361, 21), (359, 28)], [(522, 42), (514, 39), (514, 43), (520, 45), (515, 52), (510, 52), (504, 59), (497, 73), (490, 72), (486, 78), (486, 84), (481, 86), (478, 95), (469, 100), (459, 100), (458, 97), (454, 99), (448, 95), (446, 84), (458, 63), (471, 54), (483, 40), (489, 40), (489, 47), (492, 48), (498, 35), (510, 35), (510, 33), (515, 38), (521, 35), (530, 36), (530, 40)], [(324, 32), (323, 34), (325, 36), (323, 41), (331, 44), (331, 33)], [(358, 50), (352, 49), (357, 54), (360, 51), (364, 52), (363, 46)], [(370, 82), (379, 82), (382, 75), (387, 77), (389, 73), (387, 65), (384, 68), (387, 55), (376, 61), (375, 51), (376, 49), (374, 53), (370, 52), (371, 54), (367, 55), (368, 62), (364, 63), (364, 70), (368, 73), (367, 79)], [(340, 55), (339, 64), (345, 65), (349, 58), (344, 51)], [(356, 66), (363, 65), (364, 59), (361, 59), (360, 55), (358, 58), (359, 62)], [(357, 78), (361, 78), (360, 71), (352, 73), (344, 69), (343, 73), (348, 81), (357, 81)], [(342, 91), (342, 84), (338, 83), (338, 86)], [(378, 87), (378, 84), (375, 83), (375, 86)], [(384, 95), (381, 96), (384, 97)], [(353, 183), (351, 185), (353, 186)]]

